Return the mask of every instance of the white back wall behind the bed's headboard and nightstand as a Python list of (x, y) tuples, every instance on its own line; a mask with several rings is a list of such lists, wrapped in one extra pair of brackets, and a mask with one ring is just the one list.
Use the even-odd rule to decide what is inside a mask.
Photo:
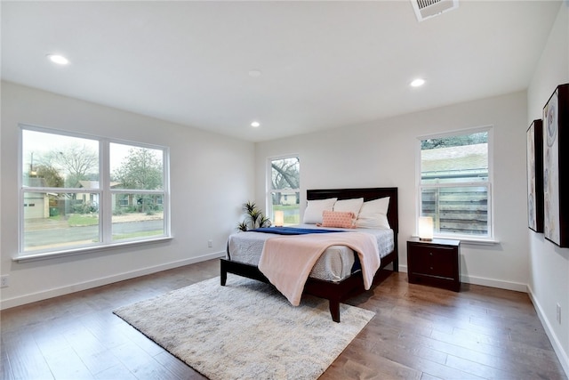
[[(256, 201), (265, 205), (267, 158), (298, 153), (301, 194), (307, 189), (386, 187), (399, 189), (399, 263), (406, 270), (406, 239), (415, 233), (415, 146), (418, 136), (493, 125), (495, 238), (499, 244), (461, 245), (465, 282), (526, 291), (525, 237), (526, 93), (470, 101), (439, 109), (346, 126), (256, 146)], [(301, 198), (305, 205), (305, 198)]]

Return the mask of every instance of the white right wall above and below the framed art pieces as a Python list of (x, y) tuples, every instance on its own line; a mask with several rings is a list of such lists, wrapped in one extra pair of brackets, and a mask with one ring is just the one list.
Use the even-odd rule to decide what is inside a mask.
[[(542, 109), (557, 85), (569, 83), (569, 2), (557, 14), (548, 42), (527, 91), (527, 122), (542, 118)], [(567, 147), (564, 147), (566, 150)], [(565, 194), (566, 196), (567, 194)], [(543, 325), (569, 374), (569, 249), (559, 248), (542, 233), (527, 231), (530, 293)], [(561, 305), (561, 323), (556, 304)]]

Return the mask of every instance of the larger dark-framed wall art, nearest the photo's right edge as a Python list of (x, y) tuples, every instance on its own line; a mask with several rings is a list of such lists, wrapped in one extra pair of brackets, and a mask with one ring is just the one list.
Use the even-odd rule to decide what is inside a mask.
[(545, 239), (569, 247), (569, 84), (543, 108), (543, 201)]

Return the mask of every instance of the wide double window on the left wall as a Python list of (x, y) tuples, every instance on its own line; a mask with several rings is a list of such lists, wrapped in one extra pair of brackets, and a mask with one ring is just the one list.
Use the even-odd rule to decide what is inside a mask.
[(169, 236), (167, 149), (22, 125), (20, 151), (21, 257)]

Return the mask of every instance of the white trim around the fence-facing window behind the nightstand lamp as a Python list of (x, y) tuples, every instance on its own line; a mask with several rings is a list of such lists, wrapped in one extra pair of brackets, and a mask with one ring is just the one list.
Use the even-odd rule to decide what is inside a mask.
[[(488, 181), (487, 182), (458, 182), (458, 183), (453, 183), (452, 185), (449, 184), (449, 186), (457, 186), (460, 184), (466, 184), (466, 183), (477, 183), (477, 184), (481, 184), (481, 183), (485, 183), (488, 186), (488, 193), (489, 193), (489, 199), (488, 199), (488, 210), (489, 210), (489, 214), (488, 214), (488, 220), (489, 220), (489, 225), (490, 228), (488, 229), (488, 236), (485, 237), (477, 237), (477, 236), (471, 236), (471, 235), (461, 235), (461, 234), (441, 234), (441, 233), (435, 233), (434, 238), (435, 239), (458, 239), (461, 240), (461, 242), (465, 242), (468, 244), (473, 244), (473, 245), (493, 245), (493, 244), (498, 244), (499, 240), (495, 239), (495, 234), (494, 234), (494, 202), (493, 202), (493, 198), (494, 198), (494, 194), (493, 194), (493, 166), (494, 166), (494, 158), (493, 158), (493, 141), (494, 141), (494, 137), (493, 137), (493, 125), (483, 125), (483, 126), (477, 126), (477, 127), (473, 127), (473, 128), (466, 128), (466, 129), (457, 129), (457, 130), (453, 130), (453, 131), (448, 131), (445, 133), (433, 133), (433, 134), (425, 134), (425, 135), (421, 135), (421, 136), (417, 136), (417, 141), (415, 142), (415, 233), (413, 236), (418, 236), (419, 235), (419, 217), (421, 216), (421, 189), (425, 188), (425, 187), (432, 187), (430, 185), (422, 185), (421, 184), (421, 141), (422, 140), (428, 140), (428, 139), (440, 139), (440, 138), (444, 138), (444, 137), (449, 137), (449, 136), (455, 136), (455, 135), (459, 135), (459, 134), (472, 134), (472, 133), (479, 133), (479, 132), (487, 132), (488, 133)], [(438, 187), (443, 187), (444, 185), (439, 185)]]

